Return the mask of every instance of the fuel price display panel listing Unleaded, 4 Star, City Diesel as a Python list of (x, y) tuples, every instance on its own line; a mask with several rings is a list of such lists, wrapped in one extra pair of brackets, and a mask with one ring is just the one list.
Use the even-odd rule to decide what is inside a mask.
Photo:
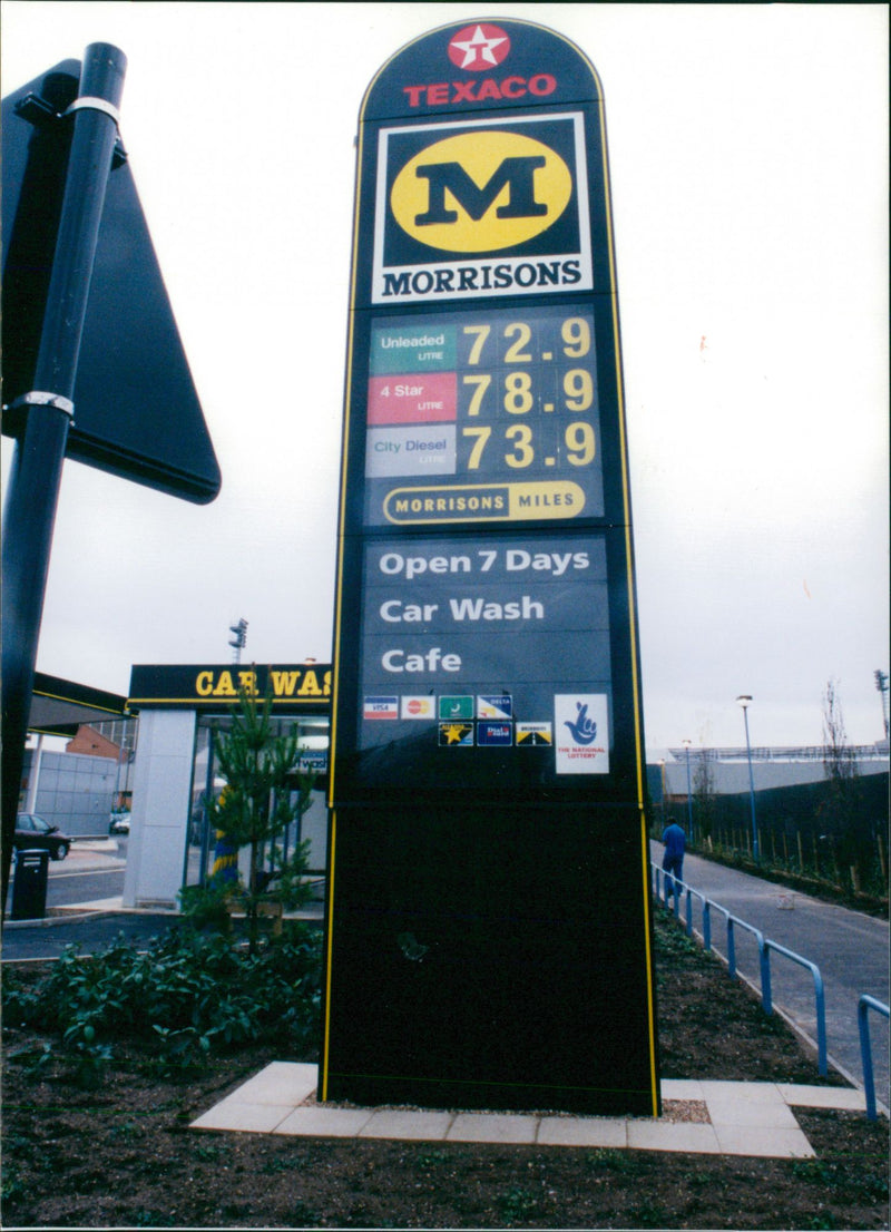
[(365, 525), (603, 516), (595, 360), (574, 306), (373, 322)]

